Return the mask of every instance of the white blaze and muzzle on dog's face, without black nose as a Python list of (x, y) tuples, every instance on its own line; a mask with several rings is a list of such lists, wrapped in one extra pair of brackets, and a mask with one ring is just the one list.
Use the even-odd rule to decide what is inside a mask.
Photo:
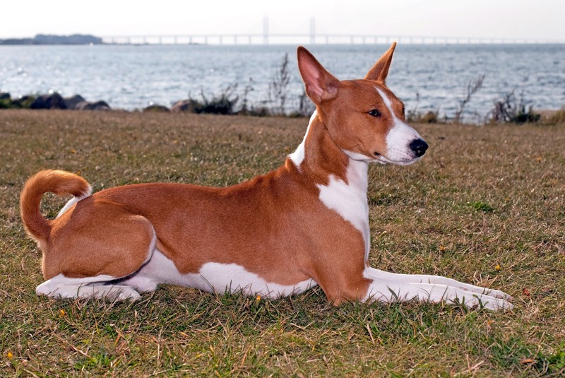
[(414, 163), (417, 160), (417, 156), (410, 148), (410, 143), (420, 139), (420, 134), (396, 117), (391, 99), (387, 97), (386, 93), (379, 88), (376, 88), (376, 91), (381, 95), (384, 105), (388, 112), (391, 113), (391, 117), (393, 117), (393, 127), (386, 134), (386, 153), (378, 159), (379, 162), (399, 165)]

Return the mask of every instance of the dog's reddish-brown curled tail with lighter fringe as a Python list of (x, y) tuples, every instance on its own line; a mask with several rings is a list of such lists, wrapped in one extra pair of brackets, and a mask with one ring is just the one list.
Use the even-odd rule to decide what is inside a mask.
[(43, 194), (58, 196), (72, 194), (75, 198), (90, 196), (92, 189), (82, 177), (63, 170), (42, 170), (30, 177), (20, 196), (20, 215), (25, 230), (38, 242), (47, 241), (52, 220), (43, 217), (40, 210)]

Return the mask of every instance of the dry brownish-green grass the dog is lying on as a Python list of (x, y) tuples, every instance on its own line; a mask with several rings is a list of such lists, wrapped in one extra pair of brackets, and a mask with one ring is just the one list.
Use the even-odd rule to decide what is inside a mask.
[[(162, 285), (137, 302), (37, 297), (18, 215), (42, 168), (94, 190), (229, 185), (283, 163), (307, 119), (0, 111), (0, 375), (530, 376), (565, 372), (564, 126), (417, 125), (422, 162), (369, 171), (372, 266), (514, 296), (511, 312), (328, 305)], [(44, 213), (64, 203), (45, 196)]]

